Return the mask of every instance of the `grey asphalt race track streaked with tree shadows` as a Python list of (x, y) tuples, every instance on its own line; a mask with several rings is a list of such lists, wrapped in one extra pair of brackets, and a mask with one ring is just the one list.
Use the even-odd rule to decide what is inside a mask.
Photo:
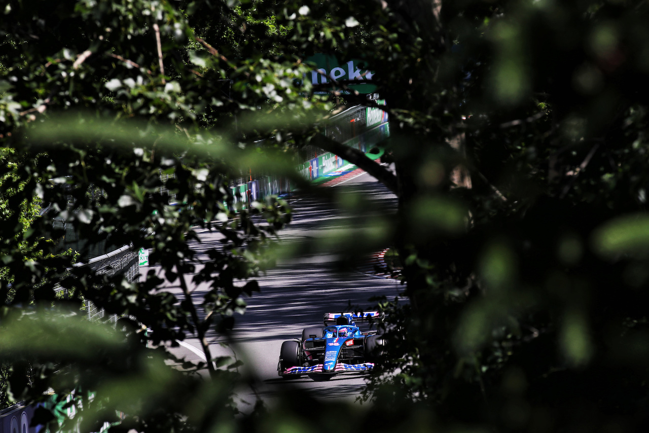
[[(395, 208), (395, 195), (367, 174), (337, 183), (336, 189), (358, 190), (364, 197), (371, 197), (378, 212), (391, 212)], [(295, 209), (294, 220), (280, 233), (282, 242), (289, 245), (323, 236), (341, 225), (358, 224), (337, 213), (333, 206), (312, 197), (291, 197), (289, 203)], [(217, 242), (214, 236), (207, 230), (202, 232), (203, 245), (197, 245), (197, 250)], [(239, 371), (256, 378), (256, 395), (264, 401), (272, 403), (275, 393), (292, 386), (308, 388), (317, 398), (348, 401), (354, 401), (362, 390), (364, 379), (358, 375), (339, 375), (326, 382), (317, 382), (308, 377), (286, 380), (278, 377), (276, 371), (282, 341), (299, 338), (302, 328), (322, 325), (325, 312), (347, 311), (349, 305), (369, 307), (369, 298), (376, 295), (393, 298), (402, 289), (396, 280), (374, 275), (369, 256), (344, 272), (340, 271), (337, 259), (333, 249), (324, 249), (280, 260), (267, 275), (257, 278), (262, 291), (247, 299), (245, 314), (236, 316), (234, 330), (227, 341), (229, 347), (211, 344), (212, 356), (234, 355), (244, 362), (245, 366)], [(141, 269), (142, 275), (148, 270)], [(167, 290), (180, 297), (180, 290), (172, 287)], [(203, 293), (204, 289), (199, 286), (194, 288), (192, 296), (201, 299)], [(223, 336), (210, 337), (210, 343), (225, 342)], [(198, 340), (190, 338), (174, 350), (186, 360), (204, 360), (199, 347)], [(239, 398), (240, 410), (245, 412), (252, 407), (252, 390), (239, 391)]]

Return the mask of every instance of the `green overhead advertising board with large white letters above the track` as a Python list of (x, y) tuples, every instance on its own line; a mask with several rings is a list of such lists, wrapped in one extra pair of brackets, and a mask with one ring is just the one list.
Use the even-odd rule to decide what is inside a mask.
[[(316, 54), (305, 59), (307, 62), (313, 62), (316, 65), (308, 77), (311, 84), (314, 86), (322, 84), (336, 83), (345, 84), (350, 89), (356, 90), (359, 93), (374, 93), (376, 86), (371, 84), (373, 72), (367, 69), (361, 69), (363, 62), (360, 60), (349, 60), (347, 62), (339, 62), (336, 56), (326, 54)], [(341, 93), (350, 93), (349, 91), (340, 90)], [(318, 92), (316, 92), (318, 93)], [(328, 93), (328, 92), (323, 92)]]

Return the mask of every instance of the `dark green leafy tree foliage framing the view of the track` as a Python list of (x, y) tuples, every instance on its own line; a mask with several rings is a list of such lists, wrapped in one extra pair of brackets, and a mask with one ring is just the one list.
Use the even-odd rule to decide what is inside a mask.
[[(344, 153), (398, 197), (384, 238), (354, 238), (398, 251), (410, 303), (378, 300), (394, 332), (369, 384), (373, 405), (335, 407), (350, 428), (643, 427), (647, 8), (631, 0), (10, 1), (0, 25), (0, 134), (16, 165), (2, 181), (19, 188), (8, 199), (40, 197), (80, 236), (151, 248), (169, 282), (182, 286), (196, 272), (212, 284), (204, 304), (176, 303), (154, 290), (162, 281), (71, 268), (73, 259), (44, 241), (61, 236), (48, 217), (31, 221), (33, 230), (10, 225), (0, 253), (10, 392), (105, 390), (85, 402), (95, 411), (88, 422), (118, 409), (139, 430), (334, 428), (300, 412), (308, 398), (235, 419), (228, 369), (194, 381), (162, 367), (169, 354), (147, 355), (137, 343), (141, 324), (156, 343), (231, 324), (242, 295), (256, 290), (247, 278), (266, 266), (263, 245), (290, 210), (269, 199), (235, 215), (227, 186), (258, 167), (255, 152), (275, 158), (310, 143)], [(308, 82), (295, 84), (312, 53), (360, 58), (374, 71), (395, 175), (317, 134), (314, 120), (326, 122), (332, 106)], [(354, 93), (344, 102), (372, 104)], [(274, 165), (286, 174), (291, 161)], [(161, 172), (191, 210), (169, 207)], [(210, 252), (214, 267), (202, 268), (190, 248), (196, 225), (227, 240)], [(35, 246), (28, 256), (19, 244)], [(99, 358), (6, 337), (77, 330), (66, 315), (10, 315), (81, 299), (134, 317), (125, 339), (82, 334), (106, 348)], [(212, 314), (201, 319), (199, 308)], [(154, 384), (143, 392), (169, 398), (147, 406), (151, 396), (138, 394), (114, 405), (138, 380)], [(226, 409), (186, 405), (191, 395)]]

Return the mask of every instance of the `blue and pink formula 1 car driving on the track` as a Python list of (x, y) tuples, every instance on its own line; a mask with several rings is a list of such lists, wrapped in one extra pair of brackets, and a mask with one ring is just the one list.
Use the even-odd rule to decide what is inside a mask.
[(278, 374), (283, 378), (309, 375), (326, 379), (338, 373), (373, 369), (372, 361), (384, 340), (376, 330), (361, 331), (355, 322), (379, 319), (376, 311), (324, 314), (324, 327), (304, 328), (300, 340), (282, 343)]

